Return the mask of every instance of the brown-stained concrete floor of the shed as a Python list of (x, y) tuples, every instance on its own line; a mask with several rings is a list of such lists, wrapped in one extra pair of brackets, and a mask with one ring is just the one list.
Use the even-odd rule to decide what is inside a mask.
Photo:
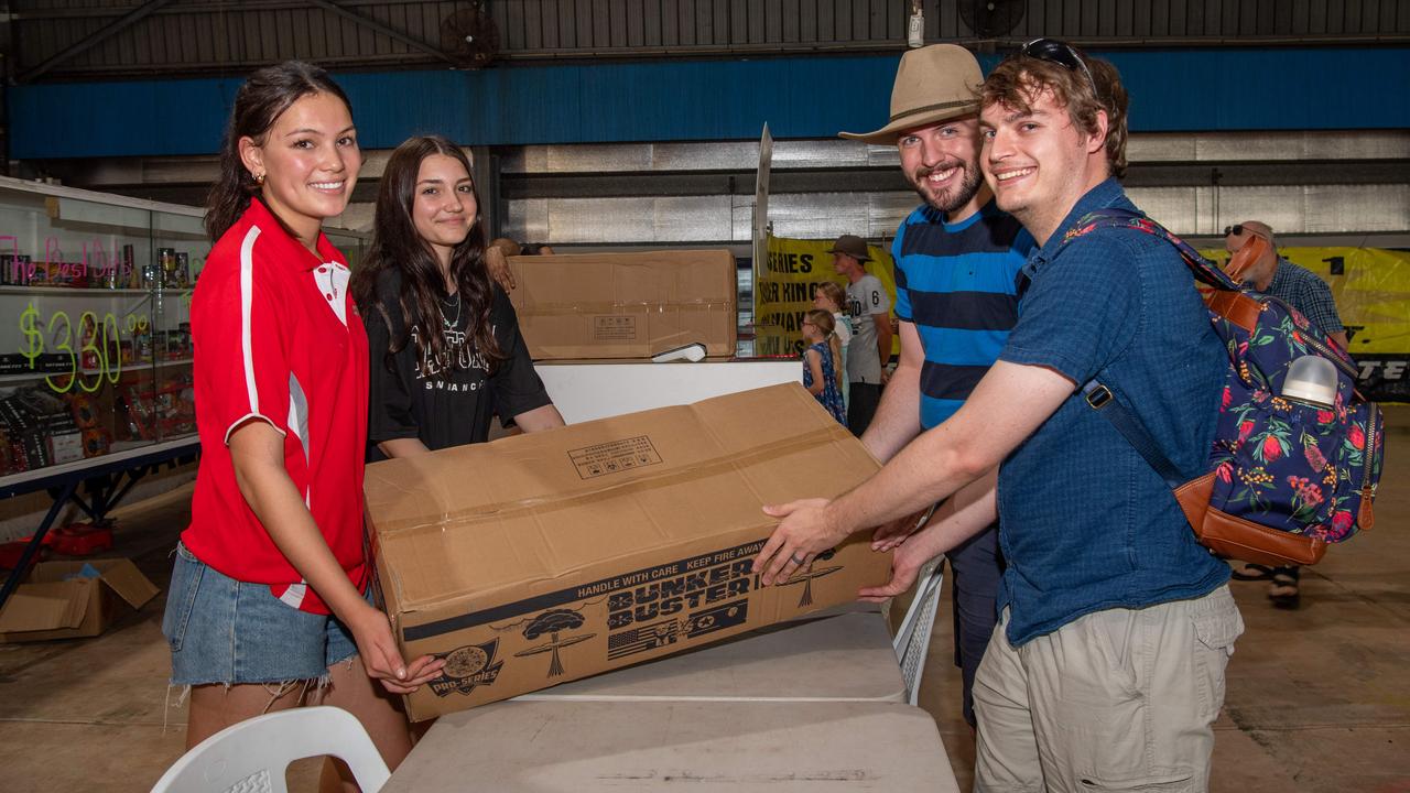
[[(1234, 583), (1248, 631), (1230, 663), (1211, 789), (1410, 793), (1410, 408), (1387, 411), (1375, 531), (1303, 574), (1277, 611), (1265, 583)], [(189, 485), (118, 512), (117, 555), (158, 586), (185, 526)], [(103, 636), (0, 645), (0, 789), (140, 792), (182, 752), (185, 708), (166, 707), (158, 597)], [(940, 605), (921, 704), (969, 789), (974, 762)], [(295, 790), (314, 766), (296, 765)]]

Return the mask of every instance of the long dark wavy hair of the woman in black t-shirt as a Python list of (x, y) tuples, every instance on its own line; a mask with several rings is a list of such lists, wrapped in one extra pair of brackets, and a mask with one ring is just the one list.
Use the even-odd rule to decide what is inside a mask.
[[(430, 244), (416, 231), (412, 210), (416, 203), (416, 179), (422, 161), (433, 154), (443, 154), (460, 161), (471, 175), (471, 195), (475, 196), (475, 220), (470, 234), (455, 246), (450, 255), (450, 277), (455, 282), (461, 299), (461, 310), (470, 312), (468, 336), (477, 353), (484, 356), (489, 368), (503, 360), (499, 343), (495, 341), (489, 325), (489, 308), (494, 303), (495, 285), (485, 268), (485, 230), (479, 223), (479, 190), (475, 188), (470, 159), (460, 147), (441, 135), (419, 135), (396, 147), (382, 171), (382, 182), (376, 192), (376, 214), (372, 223), (372, 244), (368, 246), (362, 267), (352, 275), (352, 299), (367, 316), (378, 310), (392, 333), (388, 361), (410, 343), (410, 334), (423, 346), (422, 354), (431, 360), (451, 360), (453, 350), (446, 349), (441, 333), (440, 303), (448, 298), (446, 279)], [(386, 270), (402, 275), (396, 296), (402, 310), (400, 332), (391, 322), (386, 306), (378, 301), (376, 284)]]

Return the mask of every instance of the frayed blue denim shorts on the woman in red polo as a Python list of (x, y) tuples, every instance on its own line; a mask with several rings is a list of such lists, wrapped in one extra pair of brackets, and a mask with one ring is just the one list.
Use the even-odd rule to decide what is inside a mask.
[(173, 686), (314, 680), (357, 656), (352, 634), (336, 617), (299, 611), (269, 584), (223, 576), (180, 543), (162, 635)]

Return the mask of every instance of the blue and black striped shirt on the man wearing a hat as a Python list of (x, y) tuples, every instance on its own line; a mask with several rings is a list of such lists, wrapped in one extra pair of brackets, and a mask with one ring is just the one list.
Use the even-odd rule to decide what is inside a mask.
[(969, 398), (1018, 322), (1014, 281), (1034, 236), (993, 200), (959, 223), (921, 206), (895, 233), (895, 315), (925, 349), (921, 426), (931, 429)]

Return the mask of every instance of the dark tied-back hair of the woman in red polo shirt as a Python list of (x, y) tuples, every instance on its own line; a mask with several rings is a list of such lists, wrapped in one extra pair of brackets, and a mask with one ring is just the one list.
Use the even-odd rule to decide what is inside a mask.
[(352, 103), (338, 83), (319, 66), (302, 61), (265, 66), (240, 86), (220, 143), (220, 176), (206, 196), (206, 234), (212, 241), (234, 226), (250, 207), (250, 199), (259, 195), (259, 185), (240, 159), (240, 138), (250, 137), (262, 145), (275, 120), (310, 93), (333, 95), (352, 113)]

